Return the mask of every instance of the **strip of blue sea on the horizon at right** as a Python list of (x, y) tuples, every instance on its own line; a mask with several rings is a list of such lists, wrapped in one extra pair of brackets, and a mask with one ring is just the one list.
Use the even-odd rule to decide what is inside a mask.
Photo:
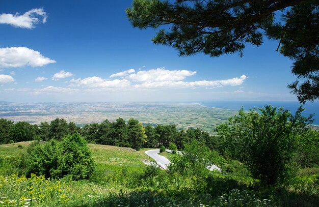
[[(272, 106), (283, 107), (288, 109), (291, 113), (295, 114), (296, 110), (300, 106), (299, 102), (290, 102), (290, 101), (202, 101), (200, 102), (203, 106), (215, 107), (215, 108), (224, 108), (232, 110), (240, 110), (244, 107), (244, 110), (249, 110), (250, 108), (262, 108), (265, 105), (271, 104)], [(319, 125), (319, 102), (306, 103), (303, 105), (305, 111), (303, 116), (309, 116), (310, 114), (315, 114), (313, 118), (315, 119), (312, 123), (313, 125)]]

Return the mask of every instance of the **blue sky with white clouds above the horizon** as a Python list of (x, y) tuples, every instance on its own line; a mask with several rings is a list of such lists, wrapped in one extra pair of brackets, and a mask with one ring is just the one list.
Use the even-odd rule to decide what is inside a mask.
[(0, 101), (297, 101), (278, 42), (180, 57), (131, 26), (131, 3), (0, 0)]

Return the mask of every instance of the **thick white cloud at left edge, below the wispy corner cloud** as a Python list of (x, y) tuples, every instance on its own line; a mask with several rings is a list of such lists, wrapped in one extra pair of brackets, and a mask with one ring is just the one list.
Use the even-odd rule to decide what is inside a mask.
[(49, 63), (56, 63), (56, 61), (50, 60), (40, 52), (27, 47), (0, 48), (0, 68), (41, 67)]

